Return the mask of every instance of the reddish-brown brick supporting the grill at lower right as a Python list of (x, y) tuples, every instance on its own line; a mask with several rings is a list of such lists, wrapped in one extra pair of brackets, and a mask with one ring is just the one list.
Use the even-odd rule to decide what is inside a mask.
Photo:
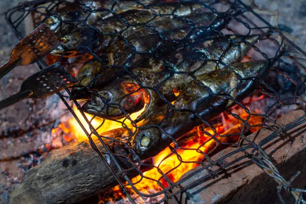
[[(303, 114), (302, 110), (291, 111), (279, 118), (277, 123), (285, 125)], [(304, 160), (306, 156), (305, 132), (306, 124), (302, 123), (287, 131), (285, 139), (277, 137), (262, 146), (286, 180), (289, 180), (298, 170), (300, 171), (300, 175), (292, 182), (293, 187), (302, 188), (306, 185), (306, 162)], [(262, 128), (259, 132), (248, 136), (248, 138), (258, 144), (271, 133), (271, 130)], [(212, 159), (218, 159), (236, 149), (235, 147), (228, 147), (212, 156)], [(251, 149), (247, 151), (251, 152)], [(243, 155), (244, 153), (239, 152), (229, 156), (223, 160), (222, 165)], [(183, 177), (200, 168), (202, 167), (196, 167), (183, 175)], [(214, 170), (217, 167), (212, 167), (211, 169)], [(187, 190), (190, 196), (188, 203), (278, 203), (277, 183), (248, 158), (230, 165), (225, 170), (226, 173), (220, 173), (215, 179), (207, 179), (197, 184), (194, 188)], [(200, 170), (182, 182), (181, 185), (187, 186), (194, 181), (200, 180), (207, 174), (207, 170)], [(293, 203), (290, 194), (282, 194), (283, 198), (289, 200), (289, 203)], [(186, 193), (183, 193), (183, 203), (184, 199), (186, 199)], [(176, 203), (176, 201), (171, 199), (169, 203)]]

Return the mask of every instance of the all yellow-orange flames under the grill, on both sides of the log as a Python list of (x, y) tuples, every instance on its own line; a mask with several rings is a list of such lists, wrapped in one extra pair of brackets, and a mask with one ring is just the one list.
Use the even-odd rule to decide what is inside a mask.
[[(249, 97), (242, 102), (250, 104), (252, 101), (260, 99), (262, 99), (262, 96), (254, 96)], [(135, 119), (142, 111), (143, 109), (131, 114), (131, 119)], [(261, 116), (251, 115), (249, 117), (249, 114), (239, 106), (233, 106), (230, 111), (239, 115), (239, 117), (243, 120), (247, 120), (247, 123), (252, 126), (248, 129), (249, 133), (254, 132), (260, 128), (260, 126), (256, 125), (262, 123)], [(87, 122), (75, 107), (74, 112), (76, 113), (82, 124), (85, 126), (86, 130), (90, 132)], [(255, 110), (255, 112), (253, 113), (256, 112), (259, 113), (259, 111), (257, 110)], [(122, 127), (122, 124), (120, 122), (124, 122), (130, 128), (132, 127), (130, 120), (127, 119), (120, 119), (120, 122), (117, 122), (106, 119), (103, 120), (98, 117), (92, 119), (92, 115), (87, 113), (85, 113), (85, 115), (87, 119), (91, 121), (91, 124), (94, 128), (98, 128), (99, 125), (104, 121), (103, 125), (97, 129), (98, 133)], [(204, 154), (207, 154), (210, 151), (215, 150), (216, 148), (218, 148), (217, 150), (221, 150), (222, 148), (228, 146), (220, 143), (235, 143), (239, 138), (239, 133), (241, 131), (245, 131), (245, 129), (243, 128), (243, 122), (235, 118), (233, 115), (227, 113), (222, 113), (217, 117), (219, 122), (213, 124), (213, 129), (208, 126), (198, 126), (193, 128), (183, 137), (181, 137), (177, 141), (180, 148), (176, 148), (175, 153), (173, 153), (172, 150), (167, 147), (159, 154), (154, 156), (152, 158), (152, 165), (154, 167), (150, 170), (143, 172), (142, 177), (138, 175), (131, 179), (131, 181), (135, 183), (134, 186), (143, 193), (151, 194), (158, 192), (163, 187), (169, 186), (169, 182), (178, 181), (182, 175), (199, 165), (200, 162), (205, 159)], [(74, 117), (68, 119), (67, 122), (61, 123), (60, 128), (63, 132), (65, 132), (66, 135), (74, 135), (77, 140), (87, 139), (87, 136), (82, 131), (81, 127), (78, 125)], [(220, 136), (217, 136), (216, 134)], [(231, 134), (232, 136), (221, 136), (226, 134)], [(215, 139), (217, 139), (218, 142), (216, 142)], [(174, 148), (174, 144), (171, 144), (171, 146)], [(215, 153), (215, 151), (213, 153)], [(163, 176), (162, 174), (164, 174), (165, 176)], [(126, 185), (126, 188), (131, 194), (136, 196), (136, 193), (134, 193), (134, 191), (129, 185)], [(122, 196), (123, 194), (120, 191), (119, 186), (115, 186), (111, 189), (111, 199), (115, 197), (121, 199)], [(104, 203), (104, 201), (106, 202), (105, 199), (100, 200), (100, 203)]]

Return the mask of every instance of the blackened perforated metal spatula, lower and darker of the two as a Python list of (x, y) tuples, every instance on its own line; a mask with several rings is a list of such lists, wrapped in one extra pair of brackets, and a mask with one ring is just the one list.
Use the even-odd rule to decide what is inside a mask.
[(57, 62), (26, 78), (18, 93), (0, 101), (0, 110), (25, 98), (57, 93), (75, 83), (77, 80)]

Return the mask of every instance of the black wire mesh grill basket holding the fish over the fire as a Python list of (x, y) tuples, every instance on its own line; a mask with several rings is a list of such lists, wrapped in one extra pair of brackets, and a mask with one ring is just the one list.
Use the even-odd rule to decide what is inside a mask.
[[(305, 189), (290, 186), (292, 180), (279, 174), (261, 146), (306, 119), (303, 115), (286, 126), (275, 122), (288, 110), (304, 107), (306, 69), (289, 52), (306, 53), (241, 1), (34, 0), (6, 13), (19, 38), (19, 26), (28, 16), (34, 26), (44, 22), (61, 36), (63, 43), (37, 64), (43, 68), (59, 61), (70, 72), (78, 71), (79, 83), (58, 95), (130, 202), (139, 201), (136, 193), (157, 197), (154, 203), (170, 197), (180, 203), (178, 193), (246, 157), (277, 181), (278, 192), (289, 189), (297, 203), (304, 202)], [(94, 116), (87, 119), (85, 112)], [(96, 117), (117, 121), (128, 136), (103, 136), (99, 129), (107, 124), (103, 119), (93, 125)], [(261, 143), (249, 140), (260, 128), (274, 133)], [(230, 145), (236, 150), (211, 158)], [(161, 151), (162, 158), (156, 157)], [(186, 151), (197, 156), (185, 160)], [(222, 164), (237, 152), (245, 156)], [(178, 164), (165, 168), (173, 156)], [(201, 167), (173, 180), (184, 164)], [(150, 177), (143, 169), (155, 169), (159, 176)], [(182, 187), (203, 169), (209, 175)], [(137, 180), (130, 174), (135, 171)], [(145, 179), (156, 189), (139, 189), (137, 183)], [(280, 193), (279, 198), (283, 202)]]

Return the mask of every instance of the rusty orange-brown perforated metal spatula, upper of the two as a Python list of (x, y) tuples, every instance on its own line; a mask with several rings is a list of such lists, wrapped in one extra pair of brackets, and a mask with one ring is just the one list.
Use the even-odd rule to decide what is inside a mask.
[(0, 67), (0, 78), (17, 65), (37, 62), (60, 43), (60, 37), (45, 23), (39, 25), (13, 48), (9, 61)]

